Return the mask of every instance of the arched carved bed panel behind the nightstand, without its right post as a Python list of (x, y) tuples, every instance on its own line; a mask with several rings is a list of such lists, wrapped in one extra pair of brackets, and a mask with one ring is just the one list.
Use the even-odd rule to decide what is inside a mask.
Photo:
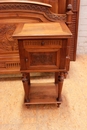
[(50, 8), (49, 4), (29, 0), (0, 1), (0, 73), (19, 73), (18, 43), (12, 38), (18, 24), (66, 22), (66, 14), (52, 13)]

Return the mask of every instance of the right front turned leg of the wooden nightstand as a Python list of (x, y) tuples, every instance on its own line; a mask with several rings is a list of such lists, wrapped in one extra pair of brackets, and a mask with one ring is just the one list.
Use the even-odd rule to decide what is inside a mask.
[[(57, 101), (62, 101), (61, 92), (62, 92), (62, 87), (63, 87), (63, 81), (64, 81), (64, 73), (60, 73), (60, 75), (58, 76), (58, 97), (57, 97)], [(58, 103), (58, 106), (59, 105), (60, 105), (60, 103)]]

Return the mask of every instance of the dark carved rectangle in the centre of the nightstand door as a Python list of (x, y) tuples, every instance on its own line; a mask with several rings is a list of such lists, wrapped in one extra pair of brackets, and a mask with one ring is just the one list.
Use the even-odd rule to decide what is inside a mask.
[(51, 52), (51, 53), (30, 53), (31, 61), (30, 65), (35, 66), (35, 65), (55, 65), (56, 64), (56, 53)]

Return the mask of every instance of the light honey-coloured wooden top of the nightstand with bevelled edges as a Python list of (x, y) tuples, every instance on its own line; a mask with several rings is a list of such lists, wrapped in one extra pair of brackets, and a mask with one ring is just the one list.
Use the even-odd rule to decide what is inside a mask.
[(13, 37), (28, 39), (34, 37), (71, 37), (72, 33), (64, 22), (55, 23), (26, 23), (20, 24)]

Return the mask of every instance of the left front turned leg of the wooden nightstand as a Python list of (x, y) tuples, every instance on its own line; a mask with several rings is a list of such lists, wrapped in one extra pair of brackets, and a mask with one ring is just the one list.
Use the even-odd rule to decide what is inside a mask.
[(24, 86), (24, 92), (25, 92), (25, 102), (29, 102), (29, 94), (30, 94), (30, 86), (29, 86), (29, 81), (28, 81), (29, 75), (27, 73), (23, 73), (23, 86)]

